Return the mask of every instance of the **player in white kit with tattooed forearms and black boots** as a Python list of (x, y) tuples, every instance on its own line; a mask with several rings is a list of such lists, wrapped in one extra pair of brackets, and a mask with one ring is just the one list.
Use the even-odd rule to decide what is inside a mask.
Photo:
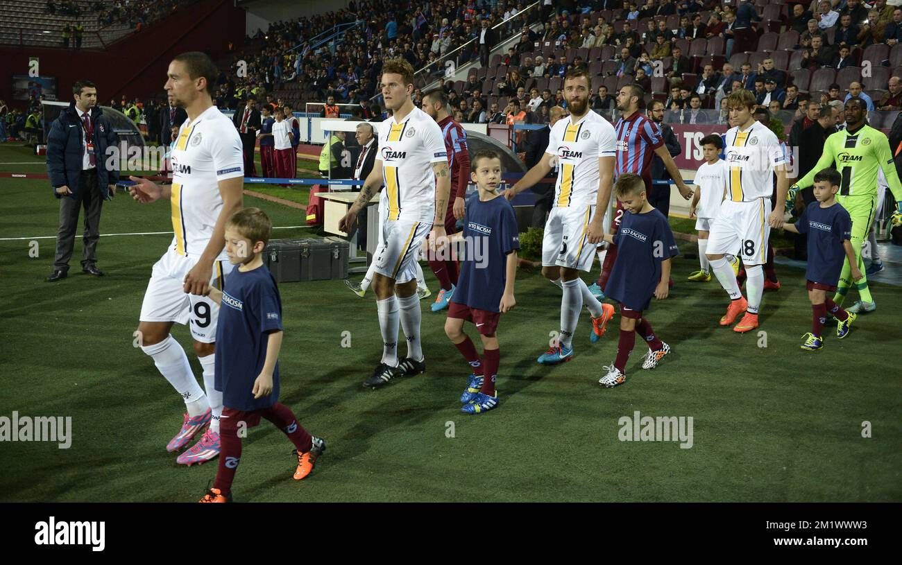
[[(447, 244), (445, 213), (451, 191), (447, 152), (438, 124), (413, 104), (413, 68), (404, 59), (382, 65), (382, 97), (392, 116), (379, 125), (379, 156), (360, 197), (338, 224), (351, 232), (357, 214), (384, 183), (379, 202), (382, 241), (373, 257), (373, 290), (382, 331), (382, 360), (364, 387), (381, 387), (426, 369), (420, 343), (417, 251)], [(431, 232), (430, 232), (431, 230)], [(407, 357), (398, 360), (398, 325), (407, 337)]]

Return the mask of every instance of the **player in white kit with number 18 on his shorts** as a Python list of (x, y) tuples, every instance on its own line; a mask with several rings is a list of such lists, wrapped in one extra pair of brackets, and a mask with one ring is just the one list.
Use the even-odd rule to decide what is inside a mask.
[[(730, 306), (721, 325), (730, 325), (745, 312), (734, 332), (744, 333), (758, 327), (758, 312), (764, 292), (764, 269), (767, 260), (770, 228), (783, 227), (783, 211), (770, 209), (777, 174), (777, 202), (787, 195), (786, 157), (777, 136), (768, 126), (755, 121), (755, 96), (748, 90), (734, 90), (723, 100), (730, 109), (730, 123), (736, 125), (726, 133), (724, 155), (727, 187), (717, 211), (706, 250), (714, 276), (730, 296)], [(748, 299), (742, 297), (728, 253), (740, 250), (748, 275)]]

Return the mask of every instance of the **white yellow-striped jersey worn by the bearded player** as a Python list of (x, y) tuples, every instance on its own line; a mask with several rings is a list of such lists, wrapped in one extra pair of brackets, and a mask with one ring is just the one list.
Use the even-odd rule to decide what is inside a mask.
[(549, 155), (557, 157), (555, 207), (594, 205), (598, 197), (598, 159), (614, 157), (617, 135), (614, 126), (589, 111), (579, 122), (572, 116), (557, 120), (548, 135)]

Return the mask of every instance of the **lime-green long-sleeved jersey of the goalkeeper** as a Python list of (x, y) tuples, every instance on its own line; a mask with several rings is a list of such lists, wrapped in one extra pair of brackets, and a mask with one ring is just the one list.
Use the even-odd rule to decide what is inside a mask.
[(863, 125), (853, 134), (842, 130), (828, 136), (824, 141), (824, 153), (817, 160), (815, 168), (800, 178), (796, 185), (799, 188), (812, 186), (817, 172), (834, 166), (834, 162), (836, 170), (842, 176), (840, 191), (836, 195), (841, 200), (845, 196), (875, 198), (878, 169), (883, 169), (895, 199), (902, 200), (902, 186), (899, 184), (887, 136), (870, 125)]

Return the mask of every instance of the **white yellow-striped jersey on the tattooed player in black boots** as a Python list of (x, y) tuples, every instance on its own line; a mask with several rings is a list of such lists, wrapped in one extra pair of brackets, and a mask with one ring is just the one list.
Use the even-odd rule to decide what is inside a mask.
[(433, 163), (447, 162), (442, 130), (417, 107), (400, 123), (392, 117), (379, 124), (379, 159), (382, 159), (380, 206), (388, 220), (432, 221), (436, 210)]

